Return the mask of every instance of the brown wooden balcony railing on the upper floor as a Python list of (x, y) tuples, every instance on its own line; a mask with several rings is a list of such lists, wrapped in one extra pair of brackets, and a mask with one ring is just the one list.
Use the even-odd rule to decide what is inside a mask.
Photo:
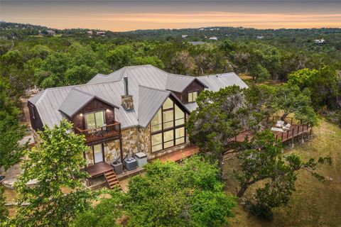
[(87, 143), (94, 140), (101, 140), (109, 137), (120, 137), (121, 136), (121, 123), (114, 121), (114, 123), (100, 128), (80, 129), (75, 128), (75, 133), (85, 135)]

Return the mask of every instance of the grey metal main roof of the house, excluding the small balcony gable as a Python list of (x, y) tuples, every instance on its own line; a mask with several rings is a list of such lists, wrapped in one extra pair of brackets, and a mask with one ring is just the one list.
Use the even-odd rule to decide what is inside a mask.
[[(87, 84), (45, 89), (28, 101), (36, 106), (43, 124), (53, 126), (59, 124), (63, 118), (61, 111), (67, 115), (74, 114), (82, 104), (90, 99), (90, 96), (112, 106), (121, 106), (121, 95), (124, 94), (124, 75), (129, 78), (129, 94), (133, 96), (134, 111), (125, 111), (124, 108), (115, 110), (115, 118), (121, 122), (121, 128), (138, 125), (146, 127), (163, 101), (166, 100), (166, 96), (172, 95), (178, 99), (167, 91), (167, 87), (175, 92), (182, 91), (187, 87), (186, 84), (190, 84), (195, 79), (206, 84), (206, 87), (213, 91), (233, 84), (247, 87), (247, 84), (244, 84), (234, 73), (188, 77), (170, 74), (151, 65), (140, 65), (124, 67), (107, 76), (97, 74)], [(193, 111), (196, 108), (195, 105), (186, 104), (183, 107), (188, 111)]]

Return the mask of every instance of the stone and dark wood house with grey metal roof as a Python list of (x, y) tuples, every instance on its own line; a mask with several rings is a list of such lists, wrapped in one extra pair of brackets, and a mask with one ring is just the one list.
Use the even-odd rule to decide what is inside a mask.
[[(34, 131), (62, 118), (85, 135), (87, 167), (145, 153), (153, 159), (190, 144), (185, 122), (204, 89), (247, 87), (234, 72), (190, 77), (151, 65), (97, 74), (87, 84), (45, 89), (28, 100)], [(102, 172), (103, 174), (103, 172)]]

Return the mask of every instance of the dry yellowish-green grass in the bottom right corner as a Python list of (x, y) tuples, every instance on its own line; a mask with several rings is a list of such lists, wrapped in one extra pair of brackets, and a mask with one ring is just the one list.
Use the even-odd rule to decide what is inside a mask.
[[(296, 153), (303, 160), (310, 157), (332, 157), (332, 165), (321, 165), (318, 173), (328, 177), (319, 182), (308, 172), (301, 170), (293, 192), (286, 206), (274, 209), (274, 219), (260, 220), (250, 216), (242, 206), (234, 210), (235, 218), (231, 226), (341, 226), (341, 128), (327, 121), (321, 121), (314, 131), (314, 139), (304, 144), (295, 144), (295, 148), (286, 149), (285, 153)], [(224, 175), (228, 178), (227, 192), (235, 194), (237, 181), (232, 170), (238, 167), (237, 160), (226, 160)], [(251, 196), (254, 188), (247, 192)]]

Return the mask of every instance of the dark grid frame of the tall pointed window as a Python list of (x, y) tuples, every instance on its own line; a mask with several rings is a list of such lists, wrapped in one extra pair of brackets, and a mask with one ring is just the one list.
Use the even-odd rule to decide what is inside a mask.
[[(185, 128), (186, 117), (187, 117), (187, 116), (186, 116), (186, 111), (185, 111), (185, 109), (183, 109), (182, 106), (180, 106), (180, 105), (178, 104), (177, 101), (175, 101), (175, 99), (173, 99), (173, 97), (169, 96), (168, 98), (171, 99), (171, 100), (173, 101), (173, 107), (168, 108), (168, 109), (163, 109), (163, 105), (160, 107), (160, 109), (161, 109), (161, 130), (152, 131), (153, 126), (151, 125), (151, 123), (149, 124), (149, 125), (150, 125), (150, 128), (151, 128), (151, 137), (152, 137), (153, 135), (156, 135), (156, 134), (161, 134), (161, 141), (162, 141), (162, 142), (161, 142), (161, 145), (162, 145), (162, 146), (161, 146), (161, 149), (160, 149), (160, 150), (153, 150), (153, 143), (152, 143), (152, 139), (151, 139), (151, 153), (152, 153), (152, 154), (159, 153), (159, 152), (161, 152), (161, 151), (163, 151), (163, 150), (170, 149), (170, 148), (173, 148), (173, 147), (175, 147), (175, 146), (178, 146), (178, 145), (181, 145), (181, 144), (186, 143), (186, 139), (187, 139), (187, 138), (186, 138), (186, 128)], [(184, 114), (184, 117), (183, 117), (183, 118), (175, 119), (175, 105), (178, 106), (178, 108), (179, 108), (181, 111), (183, 111), (183, 114)], [(158, 109), (158, 111), (159, 111), (160, 109)], [(165, 123), (165, 122), (163, 122), (163, 113), (166, 112), (166, 111), (173, 111), (173, 126), (172, 126), (171, 128), (164, 128), (164, 123)], [(180, 125), (176, 126), (175, 122), (176, 122), (177, 120), (180, 120), (180, 119), (184, 119), (183, 124), (180, 124)], [(171, 122), (171, 121), (168, 121), (168, 122)], [(159, 123), (159, 124), (160, 124), (160, 123)], [(159, 125), (159, 124), (156, 124), (156, 125)], [(154, 125), (154, 126), (156, 126), (156, 125)], [(179, 139), (179, 138), (176, 138), (176, 135), (175, 135), (175, 130), (176, 130), (177, 128), (184, 128), (185, 135), (184, 135), (183, 137), (180, 137), (180, 138), (184, 138), (184, 142), (183, 142), (183, 143), (176, 144), (176, 140)], [(165, 141), (165, 140), (164, 140), (164, 133), (169, 132), (169, 131), (173, 131), (173, 140)], [(170, 141), (173, 141), (173, 145), (172, 145), (171, 147), (165, 148), (165, 143), (168, 143), (168, 142), (170, 142)], [(158, 143), (158, 144), (156, 144), (156, 145), (160, 145), (160, 143)], [(156, 145), (155, 145), (155, 146), (156, 146)]]

